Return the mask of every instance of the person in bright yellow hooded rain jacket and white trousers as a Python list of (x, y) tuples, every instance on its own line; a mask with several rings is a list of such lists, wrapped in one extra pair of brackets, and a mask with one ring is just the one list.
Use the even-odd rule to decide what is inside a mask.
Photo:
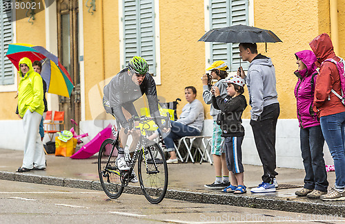
[(18, 112), (23, 117), (24, 157), (23, 165), (17, 172), (46, 169), (46, 156), (43, 152), (39, 123), (44, 111), (43, 82), (34, 71), (29, 58), (19, 60)]

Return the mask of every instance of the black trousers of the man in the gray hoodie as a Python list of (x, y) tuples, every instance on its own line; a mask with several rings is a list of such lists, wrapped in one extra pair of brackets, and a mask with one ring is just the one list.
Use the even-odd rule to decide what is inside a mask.
[(250, 120), (253, 129), (255, 146), (264, 168), (262, 181), (270, 183), (278, 173), (275, 171), (275, 132), (279, 117), (279, 103), (270, 104), (264, 107), (264, 111), (257, 120)]

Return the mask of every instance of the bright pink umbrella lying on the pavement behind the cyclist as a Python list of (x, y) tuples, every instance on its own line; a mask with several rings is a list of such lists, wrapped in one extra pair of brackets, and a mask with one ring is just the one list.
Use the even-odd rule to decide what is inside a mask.
[[(99, 148), (101, 148), (101, 144), (103, 143), (103, 141), (110, 137), (114, 138), (114, 135), (112, 135), (111, 124), (109, 124), (106, 128), (100, 131), (96, 135), (96, 137), (94, 137), (90, 142), (88, 142), (83, 147), (81, 147), (77, 151), (77, 153), (71, 156), (71, 158), (72, 159), (87, 159), (91, 157), (92, 155), (95, 155), (95, 153), (99, 152)], [(109, 153), (110, 153), (110, 150), (109, 150)]]

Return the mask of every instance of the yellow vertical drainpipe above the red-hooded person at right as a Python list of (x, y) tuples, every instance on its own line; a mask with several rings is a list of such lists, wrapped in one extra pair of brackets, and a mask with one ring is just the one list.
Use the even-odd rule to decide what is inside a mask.
[(338, 1), (329, 1), (329, 14), (331, 17), (331, 39), (333, 43), (333, 49), (336, 55), (339, 54), (339, 34), (338, 34)]

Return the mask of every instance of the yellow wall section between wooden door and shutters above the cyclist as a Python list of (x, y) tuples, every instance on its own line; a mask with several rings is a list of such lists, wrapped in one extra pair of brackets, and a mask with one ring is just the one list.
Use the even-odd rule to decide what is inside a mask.
[[(84, 0), (83, 5), (85, 2)], [(88, 12), (88, 8), (83, 8), (83, 37), (86, 120), (93, 120), (98, 117), (98, 113), (104, 111), (100, 98), (103, 96), (105, 85), (103, 80), (115, 76), (120, 71), (117, 1), (96, 1), (96, 11), (93, 15)], [(97, 112), (92, 113), (95, 109)], [(105, 119), (106, 117), (98, 118)]]

